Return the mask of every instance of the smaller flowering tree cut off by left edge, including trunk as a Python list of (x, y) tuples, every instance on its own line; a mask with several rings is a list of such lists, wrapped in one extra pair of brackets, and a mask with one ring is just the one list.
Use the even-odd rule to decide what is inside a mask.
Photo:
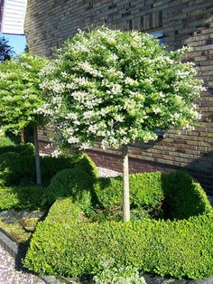
[(43, 104), (39, 74), (45, 60), (30, 53), (0, 64), (0, 127), (14, 134), (32, 127), (35, 147), (37, 184), (42, 183), (37, 126), (43, 118), (35, 113)]

